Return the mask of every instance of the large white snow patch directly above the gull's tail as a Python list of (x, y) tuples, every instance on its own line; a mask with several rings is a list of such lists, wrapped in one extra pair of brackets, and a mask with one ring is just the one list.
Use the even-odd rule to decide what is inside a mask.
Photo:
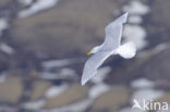
[(123, 36), (125, 41), (133, 41), (137, 49), (143, 49), (147, 45), (146, 32), (138, 25), (125, 25)]

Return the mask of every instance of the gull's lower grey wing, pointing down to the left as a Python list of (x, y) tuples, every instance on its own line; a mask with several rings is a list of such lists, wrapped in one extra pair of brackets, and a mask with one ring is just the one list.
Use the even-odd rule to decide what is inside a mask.
[(85, 85), (89, 78), (96, 75), (97, 69), (110, 55), (111, 55), (111, 51), (99, 51), (87, 60), (83, 70), (82, 85)]

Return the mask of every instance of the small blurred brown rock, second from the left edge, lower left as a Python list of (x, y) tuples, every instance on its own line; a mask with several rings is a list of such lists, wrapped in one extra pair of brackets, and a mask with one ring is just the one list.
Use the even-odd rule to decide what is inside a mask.
[(33, 91), (31, 95), (31, 100), (37, 100), (42, 98), (47, 89), (51, 87), (51, 83), (46, 80), (35, 80), (33, 83)]

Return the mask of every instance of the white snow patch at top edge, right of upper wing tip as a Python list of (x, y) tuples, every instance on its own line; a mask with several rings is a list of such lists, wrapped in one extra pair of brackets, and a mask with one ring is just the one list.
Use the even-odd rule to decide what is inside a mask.
[(149, 12), (149, 8), (141, 1), (131, 1), (130, 5), (123, 8), (123, 11), (129, 12), (130, 14), (144, 15)]

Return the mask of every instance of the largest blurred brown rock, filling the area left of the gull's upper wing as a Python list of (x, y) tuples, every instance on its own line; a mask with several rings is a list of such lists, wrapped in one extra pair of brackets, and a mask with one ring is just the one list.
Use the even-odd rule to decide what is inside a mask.
[(92, 47), (101, 43), (105, 39), (105, 26), (120, 15), (118, 9), (125, 2), (62, 0), (48, 11), (16, 18), (10, 33), (11, 38), (23, 51), (54, 58), (84, 54)]

